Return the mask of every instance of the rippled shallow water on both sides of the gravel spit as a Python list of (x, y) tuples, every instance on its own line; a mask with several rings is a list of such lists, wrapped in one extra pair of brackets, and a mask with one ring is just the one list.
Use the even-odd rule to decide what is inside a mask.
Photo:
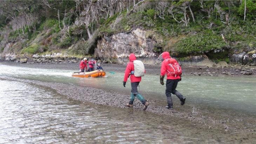
[[(10, 70), (12, 72), (10, 72)], [(75, 78), (73, 71), (32, 69), (0, 64), (0, 143), (223, 143), (226, 136), (214, 130), (201, 132), (191, 125), (131, 109), (97, 106), (68, 99), (52, 89), (9, 78), (90, 86), (129, 95), (122, 73), (104, 78)], [(255, 78), (184, 76), (178, 91), (187, 108), (212, 115), (255, 117)], [(146, 75), (139, 91), (146, 98), (166, 104), (159, 75)], [(241, 115), (241, 116), (240, 116)], [(229, 141), (228, 141), (229, 142)]]

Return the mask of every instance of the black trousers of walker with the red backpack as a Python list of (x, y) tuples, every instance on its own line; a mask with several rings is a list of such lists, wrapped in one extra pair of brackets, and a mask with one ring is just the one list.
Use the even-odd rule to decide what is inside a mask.
[(168, 79), (166, 80), (166, 90), (165, 94), (167, 97), (167, 103), (169, 107), (173, 107), (173, 100), (171, 99), (171, 93), (175, 94), (180, 100), (183, 99), (183, 95), (176, 90), (178, 85), (178, 79)]

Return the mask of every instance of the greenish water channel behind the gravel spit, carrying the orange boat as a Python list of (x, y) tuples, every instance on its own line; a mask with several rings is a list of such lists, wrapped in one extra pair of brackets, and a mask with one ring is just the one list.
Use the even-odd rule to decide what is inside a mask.
[[(107, 76), (103, 78), (75, 78), (71, 77), (73, 71), (70, 70), (0, 66), (0, 77), (62, 82), (128, 95), (130, 93), (129, 80), (125, 88), (122, 85), (123, 73), (111, 74), (107, 72)], [(256, 114), (255, 85), (256, 78), (254, 77), (183, 76), (177, 90), (187, 97), (187, 104), (197, 105), (202, 109), (211, 107), (225, 111)], [(165, 86), (159, 84), (159, 75), (145, 75), (140, 83), (139, 91), (145, 98), (166, 102)], [(173, 99), (174, 104), (178, 102), (176, 96), (173, 96)], [(177, 105), (177, 107), (179, 106)]]

